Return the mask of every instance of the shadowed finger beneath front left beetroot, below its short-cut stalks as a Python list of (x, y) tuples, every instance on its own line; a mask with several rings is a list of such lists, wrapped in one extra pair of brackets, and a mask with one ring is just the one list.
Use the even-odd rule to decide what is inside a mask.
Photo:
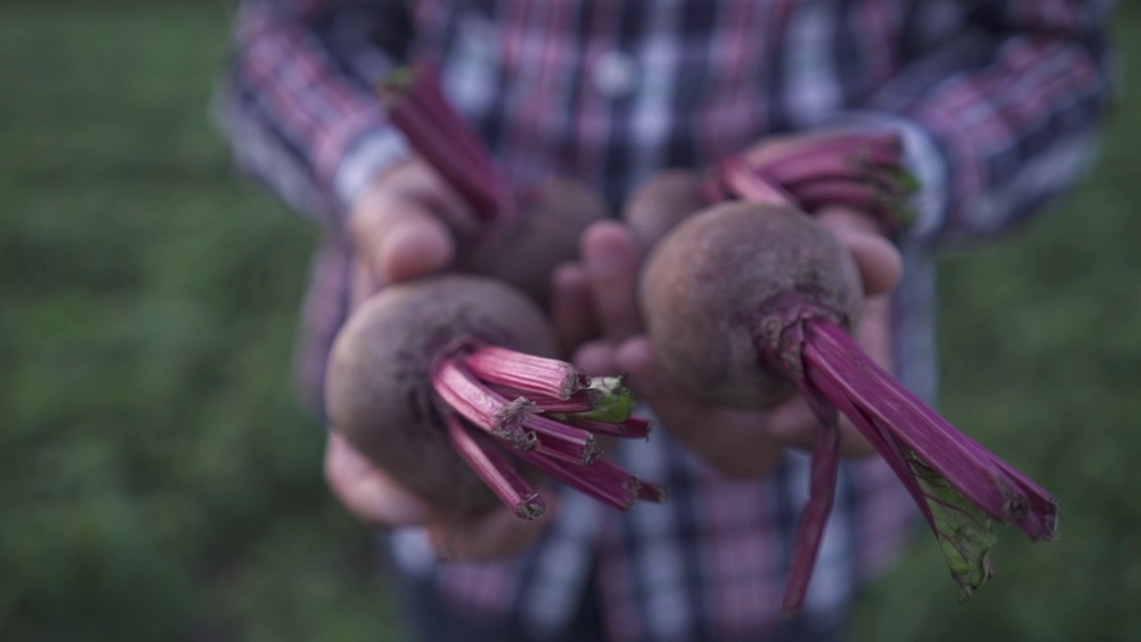
[(437, 555), (446, 560), (494, 560), (529, 548), (553, 520), (558, 505), (553, 492), (544, 492), (547, 512), (537, 520), (519, 519), (507, 507), (478, 517), (442, 517), (428, 525), (428, 538)]

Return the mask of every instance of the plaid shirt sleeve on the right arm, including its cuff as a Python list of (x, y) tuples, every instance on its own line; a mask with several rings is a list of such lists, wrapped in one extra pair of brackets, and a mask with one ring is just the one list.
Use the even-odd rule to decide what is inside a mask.
[(919, 239), (1004, 232), (1083, 177), (1109, 102), (1110, 5), (919, 3), (914, 57), (841, 119), (903, 133), (923, 185)]

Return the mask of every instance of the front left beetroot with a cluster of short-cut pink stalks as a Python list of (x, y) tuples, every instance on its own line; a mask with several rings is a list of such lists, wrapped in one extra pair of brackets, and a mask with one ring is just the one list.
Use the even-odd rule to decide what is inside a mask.
[(539, 517), (534, 472), (520, 474), (531, 468), (621, 509), (658, 497), (656, 484), (599, 458), (594, 432), (648, 431), (630, 417), (621, 379), (551, 359), (556, 345), (539, 307), (495, 280), (452, 274), (390, 286), (353, 313), (333, 346), (332, 428), (414, 493), (461, 514), (497, 498)]

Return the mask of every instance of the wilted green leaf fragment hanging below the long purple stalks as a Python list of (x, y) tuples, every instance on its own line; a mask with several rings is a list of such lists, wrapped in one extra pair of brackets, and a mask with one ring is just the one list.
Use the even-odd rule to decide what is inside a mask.
[(994, 575), (990, 549), (998, 538), (993, 522), (914, 454), (907, 452), (907, 458), (926, 496), (933, 520), (932, 530), (942, 548), (947, 568), (958, 583), (960, 602), (964, 602)]

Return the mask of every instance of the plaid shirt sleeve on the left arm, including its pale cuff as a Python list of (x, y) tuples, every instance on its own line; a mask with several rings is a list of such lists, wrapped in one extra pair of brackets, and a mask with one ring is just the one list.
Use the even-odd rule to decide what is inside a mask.
[(332, 226), (407, 146), (373, 94), (411, 22), (385, 0), (240, 0), (212, 112), (237, 168)]

